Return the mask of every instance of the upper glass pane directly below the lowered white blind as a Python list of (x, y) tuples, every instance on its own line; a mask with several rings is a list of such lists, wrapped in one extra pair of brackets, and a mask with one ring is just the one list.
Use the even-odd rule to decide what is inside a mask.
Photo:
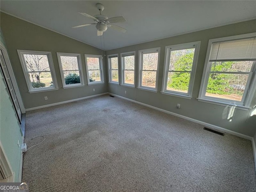
[(219, 61), (212, 62), (211, 71), (219, 72), (250, 72), (253, 61)]

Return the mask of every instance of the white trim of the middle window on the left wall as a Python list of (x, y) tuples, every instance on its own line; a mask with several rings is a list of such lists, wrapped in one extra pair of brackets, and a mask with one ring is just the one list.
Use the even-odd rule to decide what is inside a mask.
[[(77, 58), (80, 83), (66, 85), (60, 56), (71, 56), (71, 57), (76, 57)], [(63, 88), (65, 89), (65, 88), (84, 86), (84, 75), (83, 75), (83, 70), (82, 70), (81, 55), (78, 54), (78, 53), (60, 53), (60, 52), (57, 52), (57, 57), (58, 57), (58, 63), (59, 63), (59, 67), (60, 67), (60, 76), (61, 76)]]

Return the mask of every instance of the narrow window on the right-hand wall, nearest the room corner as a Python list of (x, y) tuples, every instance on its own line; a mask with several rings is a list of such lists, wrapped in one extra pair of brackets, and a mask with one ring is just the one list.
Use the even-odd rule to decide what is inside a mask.
[(118, 79), (118, 54), (108, 56), (109, 82), (119, 83)]

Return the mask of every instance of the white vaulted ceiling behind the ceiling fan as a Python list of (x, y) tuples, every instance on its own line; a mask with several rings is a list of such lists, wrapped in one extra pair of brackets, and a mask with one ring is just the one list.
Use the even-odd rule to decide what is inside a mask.
[[(95, 26), (71, 28), (93, 23), (78, 14), (99, 14), (96, 3), (105, 6), (102, 14), (123, 16), (126, 22), (117, 25), (126, 33), (108, 28), (103, 40)], [(61, 1), (61, 0), (0, 0), (3, 12), (54, 30), (92, 46), (111, 50), (175, 36), (215, 26), (222, 26), (256, 18), (256, 1)]]

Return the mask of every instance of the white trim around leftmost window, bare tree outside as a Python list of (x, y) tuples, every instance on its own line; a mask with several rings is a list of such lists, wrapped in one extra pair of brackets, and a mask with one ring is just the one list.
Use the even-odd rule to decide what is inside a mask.
[[(28, 86), (28, 92), (29, 93), (43, 92), (43, 91), (50, 91), (50, 90), (58, 90), (56, 73), (55, 73), (55, 70), (54, 70), (54, 64), (53, 64), (52, 53), (51, 52), (30, 51), (30, 50), (17, 50), (17, 52), (18, 52), (18, 56), (20, 58), (20, 63), (21, 63), (21, 66), (22, 66), (22, 70), (23, 70), (23, 73), (24, 73), (26, 84)], [(26, 66), (26, 62), (25, 62), (23, 54), (38, 54), (38, 55), (46, 55), (47, 56), (50, 72), (51, 72), (51, 75), (52, 75), (52, 82), (53, 82), (54, 86), (44, 87), (44, 88), (36, 88), (36, 89), (32, 87), (32, 84), (31, 84), (30, 78), (29, 78), (29, 74), (28, 74), (28, 68)]]

